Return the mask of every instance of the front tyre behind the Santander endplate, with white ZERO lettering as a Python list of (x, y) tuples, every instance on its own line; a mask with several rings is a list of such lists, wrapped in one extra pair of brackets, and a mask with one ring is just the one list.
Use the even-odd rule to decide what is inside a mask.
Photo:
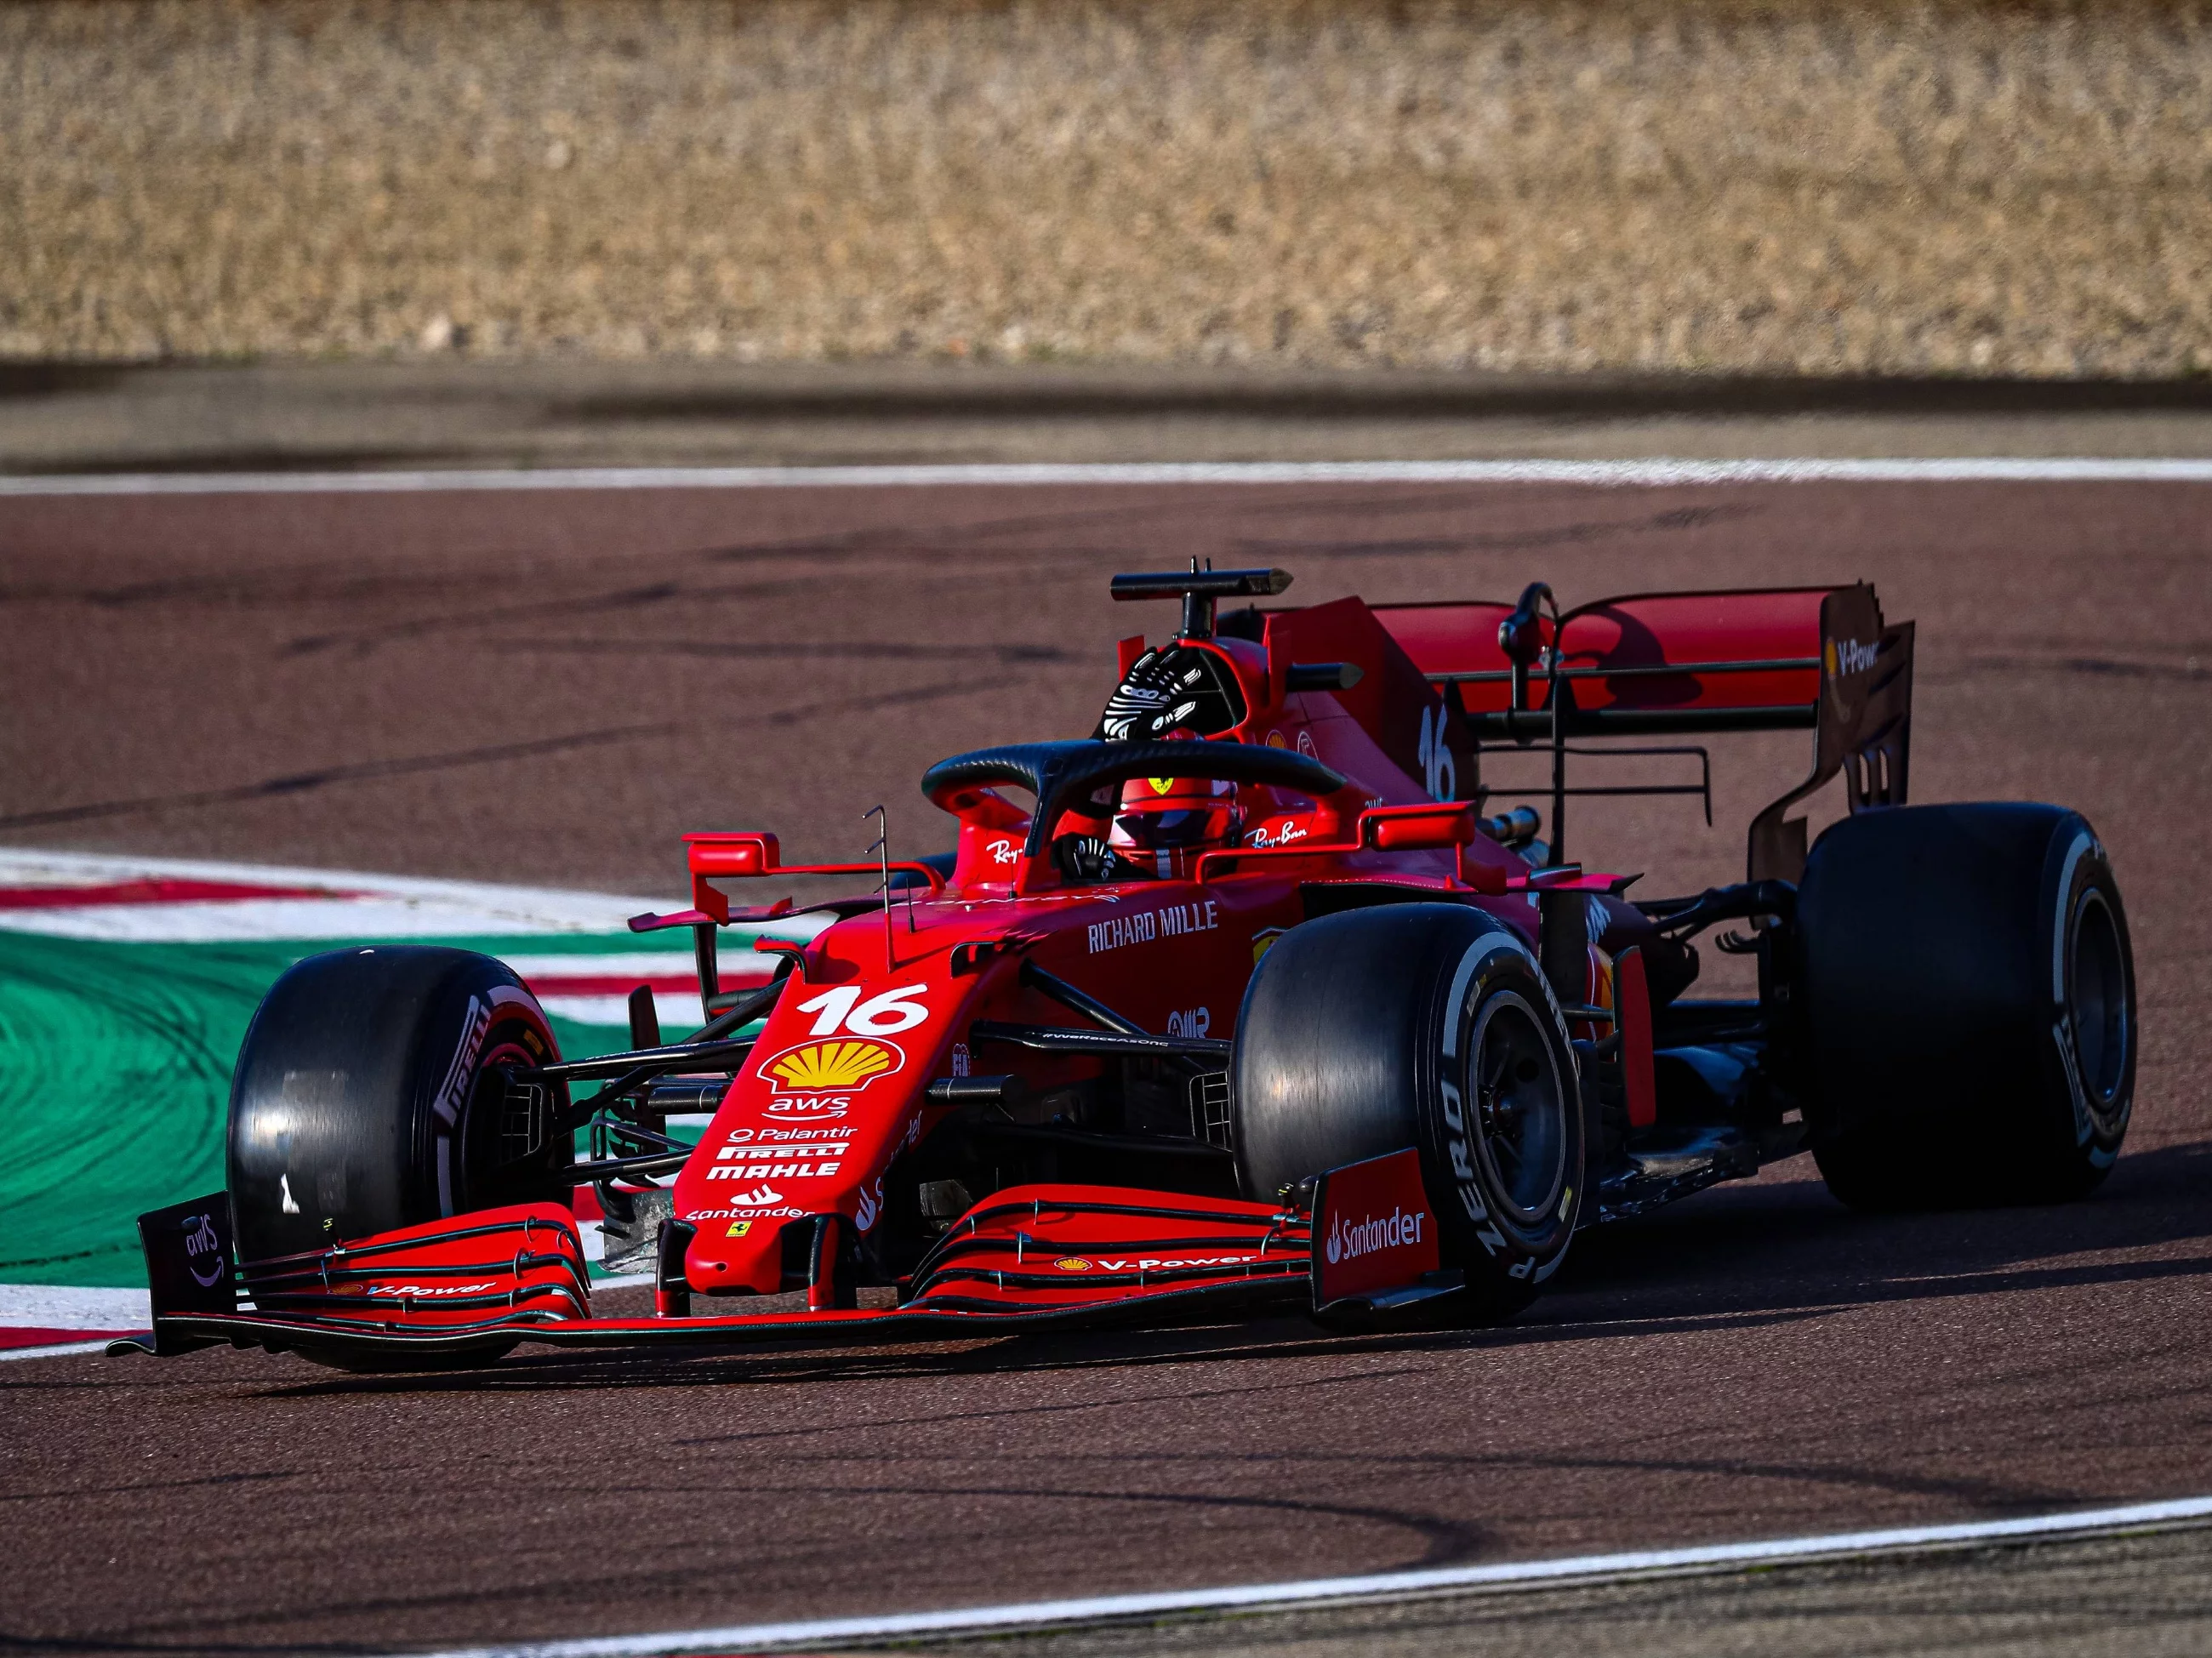
[(1566, 1260), (1584, 1198), (1575, 1050), (1535, 955), (1495, 917), (1387, 904), (1292, 928), (1252, 975), (1232, 1068), (1248, 1196), (1411, 1145), (1478, 1320), (1526, 1307)]

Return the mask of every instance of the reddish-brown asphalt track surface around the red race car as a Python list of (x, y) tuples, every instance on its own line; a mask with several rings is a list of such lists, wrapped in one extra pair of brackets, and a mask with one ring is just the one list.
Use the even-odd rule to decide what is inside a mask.
[[(1916, 798), (2084, 807), (2143, 1015), (2088, 1203), (1867, 1218), (1783, 1163), (1586, 1234), (1495, 1331), (11, 1364), (0, 1640), (458, 1645), (2212, 1492), (2208, 508), (2024, 482), (0, 502), (7, 844), (668, 895), (684, 829), (852, 856), (885, 800), (900, 849), (942, 844), (931, 758), (1088, 730), (1113, 639), (1170, 626), (1106, 604), (1117, 568), (1281, 564), (1303, 601), (1867, 577), (1920, 621)], [(1571, 847), (1646, 893), (1732, 878), (1805, 747), (1719, 745), (1712, 831), (1646, 802)], [(1975, 1594), (2053, 1556), (2006, 1559), (2028, 1576)], [(2081, 1570), (2117, 1607), (2121, 1567)]]

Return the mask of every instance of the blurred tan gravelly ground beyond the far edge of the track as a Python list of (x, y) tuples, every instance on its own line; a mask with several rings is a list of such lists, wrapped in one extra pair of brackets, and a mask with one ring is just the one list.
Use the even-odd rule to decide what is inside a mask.
[(2212, 11), (0, 9), (0, 354), (2212, 369)]

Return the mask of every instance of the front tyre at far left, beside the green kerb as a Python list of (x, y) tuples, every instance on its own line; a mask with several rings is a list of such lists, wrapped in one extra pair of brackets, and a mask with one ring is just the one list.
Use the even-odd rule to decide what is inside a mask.
[(241, 1260), (327, 1249), (504, 1203), (568, 1203), (566, 1088), (509, 1090), (560, 1059), (538, 999), (489, 955), (310, 955), (261, 999), (230, 1083)]

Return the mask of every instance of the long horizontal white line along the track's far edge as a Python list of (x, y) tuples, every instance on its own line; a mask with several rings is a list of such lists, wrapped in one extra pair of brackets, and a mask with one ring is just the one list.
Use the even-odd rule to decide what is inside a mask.
[(46, 473), (0, 495), (414, 495), (480, 489), (940, 489), (949, 484), (2212, 484), (2212, 460), (1199, 460), (973, 466), (500, 466), (392, 473)]

